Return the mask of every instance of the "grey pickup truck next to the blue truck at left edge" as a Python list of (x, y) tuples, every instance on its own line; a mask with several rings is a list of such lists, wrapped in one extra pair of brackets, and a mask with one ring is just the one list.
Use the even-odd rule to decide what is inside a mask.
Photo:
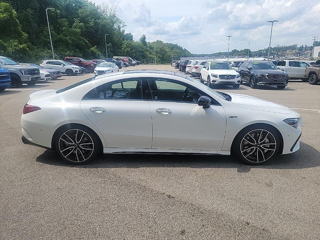
[(11, 78), (11, 87), (19, 88), (22, 83), (34, 85), (41, 79), (38, 68), (31, 66), (22, 66), (10, 58), (0, 56), (0, 68), (9, 71)]

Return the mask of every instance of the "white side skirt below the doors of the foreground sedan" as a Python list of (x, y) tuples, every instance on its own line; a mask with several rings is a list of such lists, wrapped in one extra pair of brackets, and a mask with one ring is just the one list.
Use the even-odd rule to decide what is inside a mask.
[(230, 151), (156, 148), (103, 148), (103, 153), (230, 155)]

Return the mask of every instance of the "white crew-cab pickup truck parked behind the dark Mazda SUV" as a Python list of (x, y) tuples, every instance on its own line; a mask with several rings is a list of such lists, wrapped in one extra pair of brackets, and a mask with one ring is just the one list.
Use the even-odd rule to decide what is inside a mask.
[(309, 66), (305, 61), (280, 60), (277, 62), (277, 68), (285, 71), (289, 75), (289, 79), (301, 79), (304, 82), (308, 82), (305, 71)]

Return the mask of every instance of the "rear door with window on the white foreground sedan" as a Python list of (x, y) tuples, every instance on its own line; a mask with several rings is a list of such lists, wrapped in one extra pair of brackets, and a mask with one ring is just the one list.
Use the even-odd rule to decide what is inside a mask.
[(142, 100), (141, 79), (100, 85), (84, 96), (80, 108), (107, 148), (151, 148), (151, 113), (148, 100)]

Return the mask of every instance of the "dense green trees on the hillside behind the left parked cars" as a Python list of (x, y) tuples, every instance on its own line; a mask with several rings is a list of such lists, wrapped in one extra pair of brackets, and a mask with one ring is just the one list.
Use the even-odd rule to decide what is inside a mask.
[(46, 8), (56, 59), (65, 56), (97, 59), (129, 56), (145, 63), (169, 63), (191, 53), (177, 44), (134, 41), (116, 6), (87, 0), (7, 0), (0, 2), (0, 55), (19, 62), (52, 58)]

